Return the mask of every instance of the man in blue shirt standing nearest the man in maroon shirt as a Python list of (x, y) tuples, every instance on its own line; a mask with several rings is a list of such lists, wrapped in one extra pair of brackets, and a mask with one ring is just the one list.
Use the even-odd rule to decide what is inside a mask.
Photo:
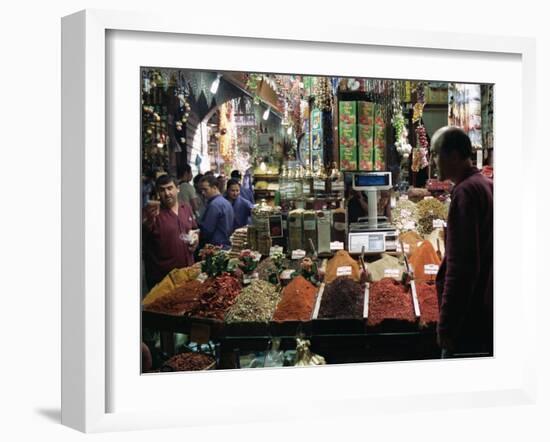
[(200, 246), (213, 244), (229, 249), (229, 237), (233, 233), (233, 208), (218, 188), (218, 180), (206, 175), (199, 181), (199, 191), (206, 198), (207, 206), (200, 219)]

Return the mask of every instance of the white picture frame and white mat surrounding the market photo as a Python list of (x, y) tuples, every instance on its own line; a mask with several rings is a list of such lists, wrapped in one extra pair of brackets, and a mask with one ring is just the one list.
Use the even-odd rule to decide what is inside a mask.
[[(536, 253), (523, 228), (536, 191), (523, 184), (530, 177), (522, 167), (535, 146), (533, 40), (422, 31), (411, 38), (397, 30), (338, 25), (328, 37), (290, 24), (241, 27), (213, 19), (183, 26), (166, 15), (87, 10), (63, 18), (62, 55), (63, 424), (102, 432), (533, 403), (535, 283), (526, 266), (509, 277), (506, 253), (513, 247), (518, 262)], [(476, 136), (494, 144), (498, 168), (494, 356), (144, 373), (144, 67), (341, 77), (348, 98), (372, 78), (493, 85), (494, 129)], [(427, 97), (435, 105), (444, 101), (439, 89)], [(457, 103), (465, 96), (457, 89)], [(249, 125), (253, 112), (241, 111)], [(456, 111), (453, 118), (460, 121)], [(148, 135), (156, 136), (153, 129)], [(247, 130), (242, 139), (253, 136)], [(178, 144), (174, 152), (187, 148), (182, 138), (171, 136)], [(155, 139), (158, 149), (168, 142)], [(194, 157), (195, 170), (202, 161)], [(373, 164), (381, 161), (372, 158)], [(177, 156), (171, 164), (177, 169)], [(517, 202), (519, 224), (509, 216), (510, 201)], [(207, 324), (194, 333), (207, 342), (215, 328)]]

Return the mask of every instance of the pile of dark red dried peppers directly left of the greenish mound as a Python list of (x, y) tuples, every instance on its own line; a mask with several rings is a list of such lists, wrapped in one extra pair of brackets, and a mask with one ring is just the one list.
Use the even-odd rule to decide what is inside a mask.
[(223, 320), (226, 311), (241, 293), (241, 283), (230, 275), (221, 275), (205, 282), (206, 290), (198, 304), (189, 312), (193, 317)]

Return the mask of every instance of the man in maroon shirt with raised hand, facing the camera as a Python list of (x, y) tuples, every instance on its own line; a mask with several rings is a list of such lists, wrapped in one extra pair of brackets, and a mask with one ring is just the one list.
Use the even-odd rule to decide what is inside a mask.
[(193, 264), (197, 241), (190, 230), (197, 228), (191, 206), (178, 202), (175, 179), (161, 175), (156, 181), (160, 204), (150, 201), (143, 217), (143, 254), (148, 288), (160, 282), (171, 270)]

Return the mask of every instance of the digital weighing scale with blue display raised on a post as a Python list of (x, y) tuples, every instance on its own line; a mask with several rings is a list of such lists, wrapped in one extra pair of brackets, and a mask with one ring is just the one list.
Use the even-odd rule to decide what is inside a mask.
[(397, 231), (386, 217), (378, 216), (378, 191), (392, 188), (391, 172), (354, 173), (351, 185), (353, 190), (367, 193), (369, 208), (368, 217), (349, 225), (349, 253), (396, 251)]

